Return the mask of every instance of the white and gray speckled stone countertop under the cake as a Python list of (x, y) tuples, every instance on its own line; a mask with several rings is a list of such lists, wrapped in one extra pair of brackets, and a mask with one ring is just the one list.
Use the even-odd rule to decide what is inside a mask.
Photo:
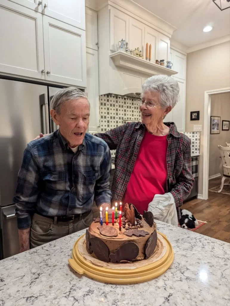
[(68, 258), (83, 230), (0, 261), (0, 305), (230, 305), (230, 244), (163, 222), (157, 228), (175, 253), (158, 278), (112, 285), (77, 274)]

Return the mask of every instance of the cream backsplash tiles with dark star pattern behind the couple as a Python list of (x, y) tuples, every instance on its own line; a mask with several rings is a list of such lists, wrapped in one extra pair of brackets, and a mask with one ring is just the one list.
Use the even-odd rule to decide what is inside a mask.
[[(137, 99), (118, 95), (100, 95), (100, 132), (116, 128), (127, 121), (140, 121), (141, 113)], [(184, 132), (191, 139), (192, 155), (199, 155), (200, 132)], [(111, 150), (115, 156), (115, 150)]]

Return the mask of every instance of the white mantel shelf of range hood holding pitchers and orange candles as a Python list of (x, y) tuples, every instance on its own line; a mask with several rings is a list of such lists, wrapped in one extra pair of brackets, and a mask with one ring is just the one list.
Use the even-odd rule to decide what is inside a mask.
[(171, 76), (173, 74), (177, 74), (177, 71), (168, 69), (152, 62), (148, 62), (142, 58), (138, 58), (123, 51), (117, 51), (110, 54), (110, 58), (113, 60), (116, 66), (137, 71), (148, 76), (158, 74), (166, 74)]

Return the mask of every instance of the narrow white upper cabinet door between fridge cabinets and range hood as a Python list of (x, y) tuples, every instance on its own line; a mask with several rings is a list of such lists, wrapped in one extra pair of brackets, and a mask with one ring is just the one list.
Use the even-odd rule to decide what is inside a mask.
[(86, 7), (86, 47), (97, 48), (97, 13)]

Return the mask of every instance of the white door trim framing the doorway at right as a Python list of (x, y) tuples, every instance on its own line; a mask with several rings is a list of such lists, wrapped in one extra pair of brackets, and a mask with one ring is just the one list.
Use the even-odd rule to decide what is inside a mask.
[(204, 92), (203, 200), (208, 199), (211, 95), (223, 94), (225, 92), (230, 92), (230, 87)]

